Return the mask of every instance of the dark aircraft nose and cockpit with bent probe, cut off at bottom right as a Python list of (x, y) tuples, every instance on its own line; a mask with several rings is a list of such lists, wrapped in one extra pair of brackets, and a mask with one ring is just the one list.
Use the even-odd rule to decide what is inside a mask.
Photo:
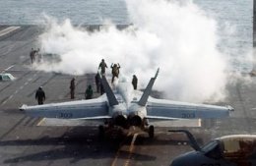
[(171, 166), (253, 166), (256, 165), (256, 135), (215, 138), (200, 147), (188, 131), (183, 132), (194, 151), (176, 157)]

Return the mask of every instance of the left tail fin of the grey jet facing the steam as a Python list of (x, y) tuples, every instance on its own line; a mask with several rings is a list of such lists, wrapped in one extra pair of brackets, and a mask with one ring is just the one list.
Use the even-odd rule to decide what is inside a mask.
[(118, 104), (118, 101), (117, 99), (115, 98), (115, 95), (111, 89), (111, 87), (109, 86), (109, 84), (107, 83), (106, 79), (104, 76), (101, 77), (100, 79), (102, 85), (103, 85), (103, 88), (104, 88), (104, 91), (106, 93), (106, 96), (107, 96), (107, 99), (108, 99), (108, 102), (109, 102), (109, 105), (110, 106), (113, 106), (113, 105), (117, 105)]

